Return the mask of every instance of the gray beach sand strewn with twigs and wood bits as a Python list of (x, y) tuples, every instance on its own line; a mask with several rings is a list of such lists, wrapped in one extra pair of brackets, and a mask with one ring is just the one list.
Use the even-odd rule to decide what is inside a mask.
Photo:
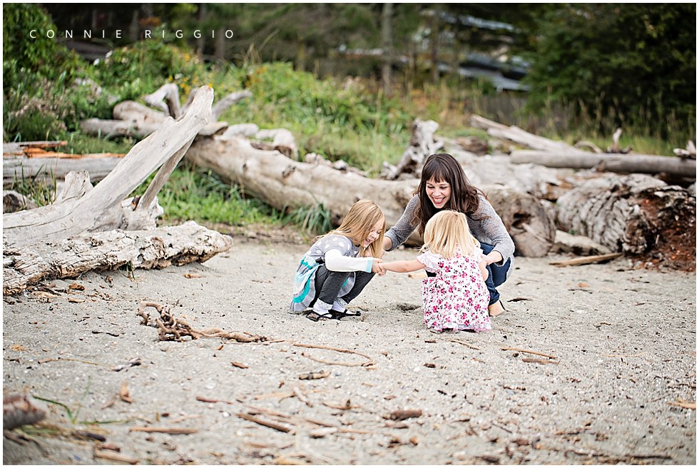
[[(235, 238), (4, 297), (4, 395), (54, 402), (5, 433), (4, 464), (695, 464), (695, 273), (516, 258), (491, 332), (435, 335), (404, 274), (374, 278), (361, 317), (287, 313), (306, 248)], [(141, 301), (265, 341), (160, 341)]]

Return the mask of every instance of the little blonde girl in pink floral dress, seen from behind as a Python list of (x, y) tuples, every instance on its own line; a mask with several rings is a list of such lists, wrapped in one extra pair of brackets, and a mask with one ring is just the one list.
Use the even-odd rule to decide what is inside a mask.
[(427, 221), (417, 260), (382, 263), (397, 273), (436, 273), (422, 283), (425, 325), (435, 332), (491, 329), (486, 261), (464, 213), (442, 210)]

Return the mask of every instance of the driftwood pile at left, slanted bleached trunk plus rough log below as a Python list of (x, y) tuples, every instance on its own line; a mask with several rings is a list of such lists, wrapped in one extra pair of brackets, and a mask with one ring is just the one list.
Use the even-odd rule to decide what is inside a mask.
[[(230, 237), (193, 222), (155, 229), (162, 214), (156, 195), (210, 121), (212, 101), (213, 90), (200, 88), (178, 120), (165, 119), (95, 187), (86, 171), (71, 172), (55, 203), (4, 213), (3, 293), (89, 270), (163, 268), (228, 250)], [(126, 199), (156, 170), (143, 195)]]

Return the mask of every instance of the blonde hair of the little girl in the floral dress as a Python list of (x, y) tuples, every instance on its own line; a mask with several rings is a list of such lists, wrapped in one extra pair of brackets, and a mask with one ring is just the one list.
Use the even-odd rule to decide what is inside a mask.
[(454, 210), (442, 210), (429, 218), (423, 237), (420, 251), (429, 250), (444, 258), (454, 257), (457, 248), (461, 255), (471, 255), (476, 245), (480, 246), (471, 234), (466, 215)]

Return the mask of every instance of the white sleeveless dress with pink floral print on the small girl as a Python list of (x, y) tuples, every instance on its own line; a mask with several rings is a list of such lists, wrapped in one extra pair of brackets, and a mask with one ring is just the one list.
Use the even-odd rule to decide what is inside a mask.
[(417, 260), (425, 270), (437, 276), (422, 282), (424, 322), (437, 332), (443, 330), (491, 330), (488, 302), (490, 292), (481, 276), (478, 263), (483, 250), (475, 248), (471, 255), (457, 253), (444, 258), (429, 251)]

